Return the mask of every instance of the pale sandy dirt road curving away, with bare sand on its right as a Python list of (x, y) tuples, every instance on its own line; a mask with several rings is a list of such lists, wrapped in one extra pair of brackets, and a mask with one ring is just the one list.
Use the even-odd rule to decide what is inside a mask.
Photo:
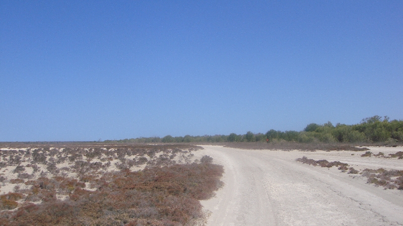
[(403, 225), (403, 191), (366, 184), (366, 178), (336, 167), (295, 161), (307, 156), (357, 168), (402, 170), (401, 159), (364, 158), (348, 151), (203, 147), (198, 155), (210, 155), (225, 170), (225, 186), (216, 197), (201, 201), (211, 211), (208, 225)]

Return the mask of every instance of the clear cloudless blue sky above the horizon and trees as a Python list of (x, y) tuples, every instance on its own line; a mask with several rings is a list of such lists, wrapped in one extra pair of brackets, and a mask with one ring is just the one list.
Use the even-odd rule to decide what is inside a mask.
[(0, 1), (0, 141), (403, 119), (403, 1), (302, 2)]

